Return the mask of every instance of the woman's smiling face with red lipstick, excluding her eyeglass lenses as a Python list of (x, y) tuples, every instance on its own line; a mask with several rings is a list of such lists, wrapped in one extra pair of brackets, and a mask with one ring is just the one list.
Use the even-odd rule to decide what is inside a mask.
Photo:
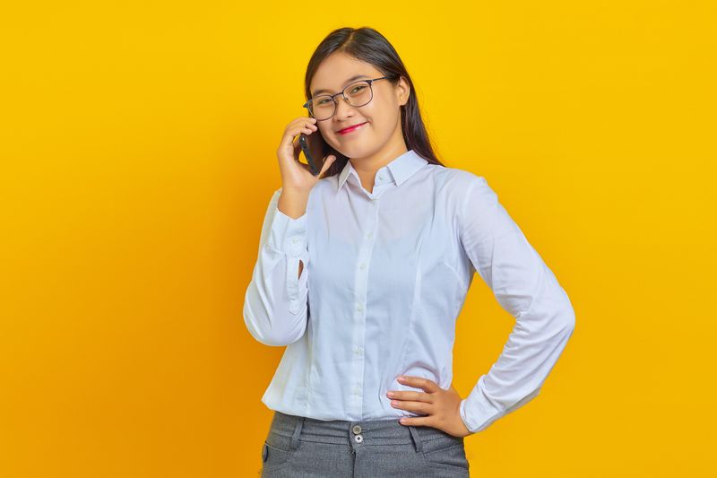
[[(350, 80), (357, 75), (365, 76)], [(311, 98), (317, 94), (335, 94), (349, 83), (381, 76), (384, 74), (374, 65), (345, 53), (335, 52), (324, 58), (316, 69), (309, 91)], [(333, 117), (316, 122), (326, 143), (348, 158), (366, 158), (386, 147), (391, 148), (394, 142), (396, 145), (398, 142), (403, 143), (401, 106), (409, 99), (408, 83), (401, 78), (394, 86), (390, 80), (380, 80), (373, 83), (371, 88), (374, 97), (367, 105), (353, 107), (341, 96), (337, 96), (336, 113)], [(339, 130), (347, 126), (362, 123), (363, 126), (347, 135), (339, 133)]]

